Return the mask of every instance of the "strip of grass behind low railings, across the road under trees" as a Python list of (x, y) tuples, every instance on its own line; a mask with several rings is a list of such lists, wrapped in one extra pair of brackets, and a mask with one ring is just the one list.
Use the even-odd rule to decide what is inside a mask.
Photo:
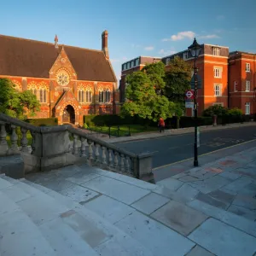
[[(130, 126), (130, 130), (129, 130), (129, 126)], [(125, 137), (125, 136), (130, 136), (130, 133), (135, 134), (135, 133), (158, 130), (157, 127), (146, 127), (143, 125), (119, 125), (119, 126), (111, 126), (110, 128), (108, 126), (88, 128), (88, 130), (90, 131), (95, 131), (95, 132), (105, 133), (105, 134), (109, 134), (109, 129), (110, 129), (110, 135), (113, 137)]]

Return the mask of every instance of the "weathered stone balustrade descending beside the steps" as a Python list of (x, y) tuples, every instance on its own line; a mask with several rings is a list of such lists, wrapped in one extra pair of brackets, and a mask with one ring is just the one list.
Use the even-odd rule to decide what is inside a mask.
[[(6, 124), (10, 125), (10, 144)], [(26, 172), (49, 171), (75, 163), (86, 163), (102, 169), (151, 181), (152, 154), (132, 154), (114, 144), (104, 142), (70, 125), (36, 127), (0, 113), (0, 156), (21, 154)], [(16, 127), (20, 127), (18, 145)], [(32, 135), (31, 147), (27, 132)]]

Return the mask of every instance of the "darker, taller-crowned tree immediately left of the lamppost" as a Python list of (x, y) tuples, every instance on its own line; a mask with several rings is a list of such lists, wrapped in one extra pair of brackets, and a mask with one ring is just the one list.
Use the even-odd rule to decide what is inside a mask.
[(188, 62), (175, 57), (166, 70), (165, 96), (172, 102), (183, 103), (186, 90), (190, 89), (192, 67)]

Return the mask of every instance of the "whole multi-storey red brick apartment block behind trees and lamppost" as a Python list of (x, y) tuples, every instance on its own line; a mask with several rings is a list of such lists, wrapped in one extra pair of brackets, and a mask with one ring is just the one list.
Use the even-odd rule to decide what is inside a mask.
[[(166, 64), (166, 68), (168, 68), (168, 63), (175, 56), (183, 58), (184, 61), (189, 61), (191, 66), (194, 67), (194, 58), (189, 50), (186, 49), (162, 58), (161, 61)], [(148, 57), (148, 60), (151, 61), (147, 63), (153, 63), (154, 59), (159, 60), (159, 58)], [(255, 113), (255, 54), (238, 51), (229, 53), (229, 48), (225, 46), (201, 44), (201, 53), (196, 62), (198, 74), (201, 77), (201, 89), (198, 90), (199, 114), (214, 104), (219, 104), (226, 108), (240, 108), (245, 114)], [(133, 71), (135, 70), (131, 68), (128, 70), (129, 73)], [(125, 84), (126, 74), (123, 64), (120, 85)], [(192, 75), (193, 73), (191, 77)], [(122, 94), (123, 90), (120, 90), (120, 93)], [(121, 100), (123, 102), (124, 97)], [(187, 114), (192, 115), (192, 109), (187, 109)]]

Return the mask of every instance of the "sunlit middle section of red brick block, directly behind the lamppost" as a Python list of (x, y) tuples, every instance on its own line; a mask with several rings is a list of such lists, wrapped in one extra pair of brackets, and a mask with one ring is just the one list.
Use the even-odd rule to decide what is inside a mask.
[[(189, 50), (162, 59), (166, 66), (175, 56), (189, 61), (194, 67), (194, 57)], [(201, 53), (196, 61), (198, 74), (201, 77), (201, 89), (198, 90), (198, 113), (214, 104), (228, 107), (228, 58), (229, 48), (224, 46), (201, 44)], [(193, 73), (191, 74), (192, 77)], [(187, 109), (187, 114), (193, 114)]]

